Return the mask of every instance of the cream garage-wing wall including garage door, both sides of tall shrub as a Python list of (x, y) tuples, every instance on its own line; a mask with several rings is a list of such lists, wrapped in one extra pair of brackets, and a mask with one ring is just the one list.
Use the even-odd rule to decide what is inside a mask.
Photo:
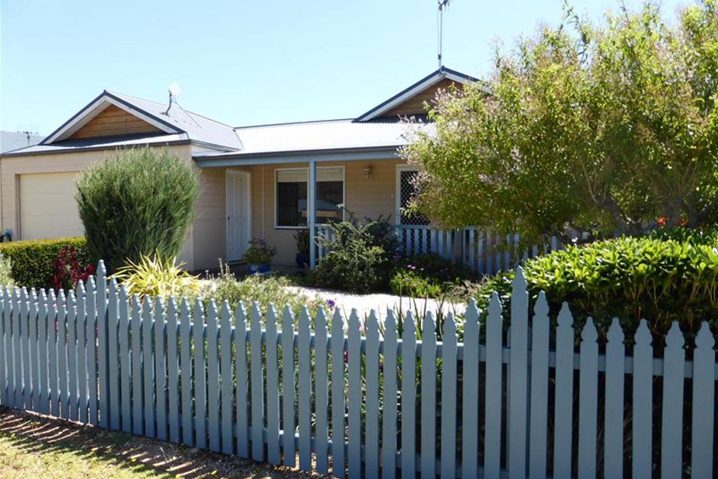
[[(190, 145), (168, 147), (192, 161)], [(15, 239), (83, 234), (70, 177), (114, 150), (0, 158), (0, 228)], [(217, 266), (225, 256), (224, 170), (200, 170), (200, 198), (180, 260), (187, 269)], [(39, 190), (49, 188), (50, 193)], [(45, 214), (52, 211), (53, 214)]]

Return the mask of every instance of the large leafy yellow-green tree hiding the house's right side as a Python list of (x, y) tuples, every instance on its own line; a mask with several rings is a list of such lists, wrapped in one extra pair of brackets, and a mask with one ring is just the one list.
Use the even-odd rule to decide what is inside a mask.
[[(717, 1), (656, 6), (593, 25), (566, 8), (480, 84), (439, 93), (402, 149), (421, 165), (416, 208), (449, 227), (638, 234), (718, 210)], [(488, 92), (488, 93), (487, 93)]]

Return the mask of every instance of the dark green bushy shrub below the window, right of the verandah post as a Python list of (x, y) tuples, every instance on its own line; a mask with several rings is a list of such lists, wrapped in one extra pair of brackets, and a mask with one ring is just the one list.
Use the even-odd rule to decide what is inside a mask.
[(328, 253), (314, 270), (315, 284), (353, 293), (387, 289), (395, 251), (385, 249), (392, 248), (392, 233), (381, 223), (331, 223), (331, 239), (325, 241)]

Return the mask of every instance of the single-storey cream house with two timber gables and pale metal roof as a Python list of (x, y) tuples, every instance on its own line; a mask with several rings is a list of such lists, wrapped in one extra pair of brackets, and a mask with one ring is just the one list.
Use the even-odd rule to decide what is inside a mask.
[(416, 175), (397, 156), (410, 128), (399, 117), (423, 115), (439, 88), (474, 81), (441, 68), (356, 118), (242, 127), (103, 91), (39, 144), (0, 156), (0, 231), (19, 239), (82, 234), (78, 172), (142, 146), (167, 148), (200, 169), (197, 219), (182, 252), (188, 269), (238, 261), (253, 237), (276, 246), (276, 263), (292, 264), (298, 229), (316, 232), (350, 213), (426, 225), (399, 211)]

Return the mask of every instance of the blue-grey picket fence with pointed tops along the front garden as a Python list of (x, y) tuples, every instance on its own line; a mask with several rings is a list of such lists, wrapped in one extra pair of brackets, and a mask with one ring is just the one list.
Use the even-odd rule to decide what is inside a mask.
[(687, 361), (677, 324), (662, 357), (645, 321), (632, 355), (617, 320), (605, 347), (591, 320), (576, 346), (567, 306), (554, 328), (541, 294), (529, 317), (521, 270), (507, 340), (497, 295), (419, 330), (411, 313), (141, 301), (103, 271), (67, 297), (2, 292), (1, 404), (339, 477), (714, 477), (707, 324)]

